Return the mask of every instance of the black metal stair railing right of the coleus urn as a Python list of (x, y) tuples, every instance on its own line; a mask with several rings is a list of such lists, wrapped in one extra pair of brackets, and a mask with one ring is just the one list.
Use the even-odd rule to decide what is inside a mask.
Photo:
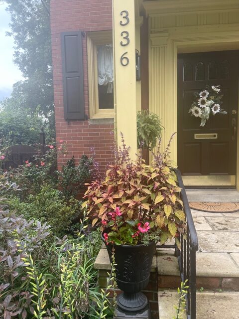
[(186, 190), (183, 184), (180, 170), (174, 169), (178, 178), (178, 185), (181, 188), (180, 198), (183, 205), (180, 209), (186, 216), (187, 230), (179, 237), (180, 247), (175, 245), (157, 245), (159, 248), (175, 248), (175, 254), (178, 257), (181, 280), (187, 281), (188, 294), (186, 296), (187, 319), (196, 319), (196, 252), (198, 251), (198, 236), (195, 229), (191, 209), (188, 203)]

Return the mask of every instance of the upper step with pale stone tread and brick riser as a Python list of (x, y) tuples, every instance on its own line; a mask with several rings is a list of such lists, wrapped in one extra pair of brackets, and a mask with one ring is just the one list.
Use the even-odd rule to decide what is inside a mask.
[[(156, 265), (159, 289), (180, 287), (181, 278), (174, 251), (158, 249)], [(239, 291), (239, 266), (230, 254), (198, 252), (196, 265), (197, 288)]]

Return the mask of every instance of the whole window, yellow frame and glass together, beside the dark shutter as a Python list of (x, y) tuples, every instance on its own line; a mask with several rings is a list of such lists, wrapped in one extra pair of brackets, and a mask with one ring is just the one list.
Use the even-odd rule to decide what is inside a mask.
[(90, 118), (114, 118), (112, 31), (87, 33)]

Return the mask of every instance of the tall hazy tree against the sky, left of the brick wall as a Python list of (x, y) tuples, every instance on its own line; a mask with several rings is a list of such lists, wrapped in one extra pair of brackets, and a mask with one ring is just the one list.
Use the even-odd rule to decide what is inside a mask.
[[(51, 57), (50, 0), (4, 0), (11, 16), (14, 63), (25, 80), (13, 85), (4, 109), (30, 109), (44, 118), (47, 136), (54, 137), (54, 100)], [(22, 140), (21, 143), (26, 143)]]

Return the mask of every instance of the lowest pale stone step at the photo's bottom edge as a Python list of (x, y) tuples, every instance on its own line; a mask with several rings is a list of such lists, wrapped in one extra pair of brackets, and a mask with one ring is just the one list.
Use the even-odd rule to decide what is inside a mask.
[[(176, 317), (174, 306), (178, 304), (176, 290), (158, 292), (159, 319)], [(197, 319), (239, 319), (239, 292), (197, 292)], [(182, 319), (186, 319), (184, 314)]]

